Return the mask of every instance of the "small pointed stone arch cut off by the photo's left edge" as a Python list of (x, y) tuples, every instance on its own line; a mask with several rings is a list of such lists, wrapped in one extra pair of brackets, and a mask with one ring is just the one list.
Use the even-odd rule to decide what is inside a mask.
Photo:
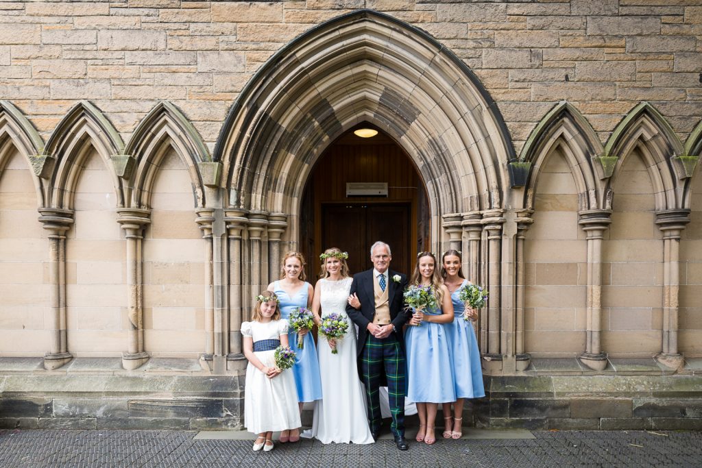
[(44, 182), (32, 166), (32, 156), (44, 154), (44, 141), (20, 109), (12, 102), (0, 100), (0, 176), (11, 154), (10, 145), (25, 158), (37, 192), (37, 207), (44, 206)]

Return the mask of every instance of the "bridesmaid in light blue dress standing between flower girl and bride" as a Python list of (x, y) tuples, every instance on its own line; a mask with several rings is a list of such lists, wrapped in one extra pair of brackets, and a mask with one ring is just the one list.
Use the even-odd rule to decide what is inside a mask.
[[(282, 260), (280, 281), (274, 281), (268, 285), (268, 290), (272, 290), (280, 300), (282, 319), (287, 320), (296, 307), (310, 308), (312, 305), (314, 289), (310, 283), (305, 281), (304, 265), (305, 260), (300, 253), (286, 253)], [(302, 414), (303, 403), (322, 399), (322, 378), (319, 373), (319, 361), (317, 361), (317, 347), (314, 346), (312, 333), (309, 331), (300, 330), (300, 335), (304, 335), (303, 349), (298, 349), (298, 333), (293, 328), (290, 328), (288, 333), (290, 347), (297, 354), (293, 375), (298, 392), (300, 414)], [(282, 443), (299, 440), (299, 429), (293, 429), (290, 432), (284, 431), (280, 434)]]

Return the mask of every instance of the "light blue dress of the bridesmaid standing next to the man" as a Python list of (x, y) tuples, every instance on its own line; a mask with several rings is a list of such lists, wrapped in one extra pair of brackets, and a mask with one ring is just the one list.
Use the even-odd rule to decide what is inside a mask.
[[(441, 315), (441, 309), (425, 314)], [(449, 340), (443, 323), (422, 321), (404, 335), (407, 355), (407, 399), (415, 403), (456, 401)]]

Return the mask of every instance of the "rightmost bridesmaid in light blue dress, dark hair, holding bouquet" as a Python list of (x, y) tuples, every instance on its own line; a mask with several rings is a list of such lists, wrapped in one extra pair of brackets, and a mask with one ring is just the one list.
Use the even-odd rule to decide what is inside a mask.
[[(461, 439), (463, 435), (461, 425), (463, 422), (463, 399), (480, 398), (485, 396), (482, 380), (482, 366), (480, 364), (480, 350), (475, 338), (472, 323), (464, 319), (465, 304), (458, 297), (463, 286), (468, 280), (461, 272), (461, 253), (458, 250), (448, 250), (442, 258), (442, 276), (444, 285), (449, 288), (453, 313), (456, 318), (453, 323), (446, 325), (449, 335), (449, 350), (453, 365), (453, 376), (456, 379), (456, 401), (444, 403), (444, 438)], [(477, 319), (475, 309), (468, 309), (468, 318)], [(453, 417), (451, 417), (453, 414)]]

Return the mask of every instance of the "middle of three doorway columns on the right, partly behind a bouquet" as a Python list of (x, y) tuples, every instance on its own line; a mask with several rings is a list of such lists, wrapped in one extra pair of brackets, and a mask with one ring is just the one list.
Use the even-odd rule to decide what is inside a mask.
[[(472, 211), (463, 215), (463, 274), (475, 284), (482, 283), (480, 277), (480, 236), (482, 234), (482, 214)], [(487, 352), (487, 314), (478, 311), (479, 317), (473, 322), (473, 330), (478, 339), (481, 354)]]

